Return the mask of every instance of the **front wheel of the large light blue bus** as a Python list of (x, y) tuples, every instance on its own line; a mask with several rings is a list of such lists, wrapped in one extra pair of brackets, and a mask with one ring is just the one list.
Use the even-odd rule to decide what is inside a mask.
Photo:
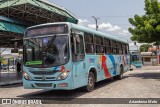
[(84, 90), (87, 92), (91, 92), (94, 90), (94, 85), (95, 85), (95, 76), (93, 72), (89, 72), (88, 83), (87, 86), (85, 86)]

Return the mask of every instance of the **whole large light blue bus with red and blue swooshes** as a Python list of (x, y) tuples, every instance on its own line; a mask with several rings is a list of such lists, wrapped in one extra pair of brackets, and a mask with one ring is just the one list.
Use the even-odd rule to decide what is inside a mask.
[(114, 36), (68, 22), (36, 25), (24, 33), (25, 89), (90, 92), (96, 82), (120, 80), (129, 69), (129, 45)]

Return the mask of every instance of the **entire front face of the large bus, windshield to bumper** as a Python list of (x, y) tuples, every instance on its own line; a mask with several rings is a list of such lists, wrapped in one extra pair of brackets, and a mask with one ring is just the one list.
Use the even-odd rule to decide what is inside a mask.
[(23, 43), (24, 88), (73, 89), (66, 23), (28, 28)]

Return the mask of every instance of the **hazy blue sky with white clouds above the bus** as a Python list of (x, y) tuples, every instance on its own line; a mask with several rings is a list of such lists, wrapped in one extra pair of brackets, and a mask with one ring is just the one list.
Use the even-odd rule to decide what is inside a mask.
[[(128, 18), (135, 14), (143, 15), (144, 0), (49, 0), (54, 4), (66, 8), (79, 20), (79, 24), (95, 29), (95, 20), (98, 19), (99, 31), (128, 40), (130, 49), (137, 49), (130, 40), (128, 32), (131, 24)], [(140, 44), (138, 44), (140, 45)]]

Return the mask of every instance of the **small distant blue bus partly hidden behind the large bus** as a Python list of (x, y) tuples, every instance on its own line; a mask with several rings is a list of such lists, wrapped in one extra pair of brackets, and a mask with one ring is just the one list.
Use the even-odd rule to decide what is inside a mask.
[(136, 68), (141, 68), (142, 64), (142, 56), (140, 51), (130, 51), (131, 55), (131, 65), (135, 66)]

